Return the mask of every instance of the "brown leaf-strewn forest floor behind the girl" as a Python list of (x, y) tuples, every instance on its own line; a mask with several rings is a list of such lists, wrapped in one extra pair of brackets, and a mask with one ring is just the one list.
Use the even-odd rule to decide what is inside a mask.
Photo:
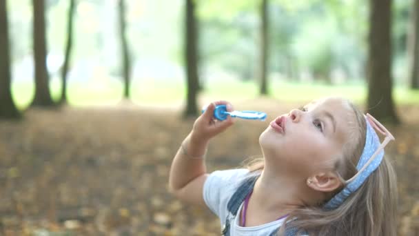
[[(237, 101), (271, 120), (300, 104)], [(419, 106), (399, 106), (403, 123), (387, 155), (398, 174), (398, 235), (419, 235)], [(204, 208), (167, 192), (170, 163), (194, 119), (181, 106), (129, 104), (28, 110), (0, 121), (0, 235), (219, 235)], [(238, 120), (216, 137), (207, 168), (235, 168), (260, 155), (267, 122)]]

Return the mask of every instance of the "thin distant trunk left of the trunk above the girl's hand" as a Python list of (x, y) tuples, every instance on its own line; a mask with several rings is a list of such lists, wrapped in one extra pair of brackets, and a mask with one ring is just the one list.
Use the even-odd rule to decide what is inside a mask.
[(122, 51), (122, 68), (124, 80), (123, 97), (130, 99), (130, 81), (131, 81), (131, 58), (128, 50), (128, 42), (126, 37), (126, 21), (125, 21), (125, 0), (119, 0), (119, 35), (121, 37)]

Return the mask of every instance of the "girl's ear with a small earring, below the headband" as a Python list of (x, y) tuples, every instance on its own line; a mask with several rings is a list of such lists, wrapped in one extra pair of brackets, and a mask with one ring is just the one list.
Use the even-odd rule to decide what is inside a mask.
[(323, 192), (329, 193), (336, 188), (339, 188), (342, 182), (335, 173), (317, 173), (307, 179), (307, 186), (310, 188)]

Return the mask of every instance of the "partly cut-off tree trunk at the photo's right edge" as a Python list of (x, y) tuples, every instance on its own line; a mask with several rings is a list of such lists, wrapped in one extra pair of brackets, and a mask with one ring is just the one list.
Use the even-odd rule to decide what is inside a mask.
[(409, 30), (408, 47), (410, 88), (419, 89), (419, 0), (414, 0), (411, 10), (411, 30)]

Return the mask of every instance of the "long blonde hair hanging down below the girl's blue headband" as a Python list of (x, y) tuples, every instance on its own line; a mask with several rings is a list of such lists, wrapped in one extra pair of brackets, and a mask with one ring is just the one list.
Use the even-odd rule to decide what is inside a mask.
[[(384, 158), (365, 183), (335, 210), (321, 207), (294, 210), (288, 217), (309, 235), (396, 235), (396, 175)], [(287, 226), (288, 226), (287, 224)], [(283, 235), (281, 227), (279, 235)]]

